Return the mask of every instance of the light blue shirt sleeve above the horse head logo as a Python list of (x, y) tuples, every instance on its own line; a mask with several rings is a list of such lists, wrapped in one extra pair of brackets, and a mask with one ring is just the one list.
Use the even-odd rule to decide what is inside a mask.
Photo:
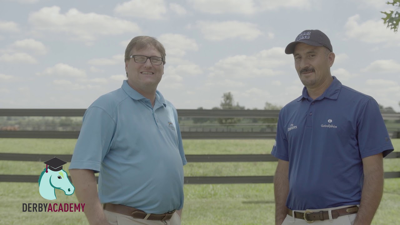
[(91, 169), (99, 173), (115, 128), (116, 123), (106, 111), (96, 106), (89, 107), (83, 117), (69, 169)]

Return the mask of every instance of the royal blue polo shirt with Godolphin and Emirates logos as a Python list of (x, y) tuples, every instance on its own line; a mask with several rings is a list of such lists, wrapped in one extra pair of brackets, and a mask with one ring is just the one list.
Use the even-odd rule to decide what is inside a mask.
[(362, 159), (394, 149), (374, 98), (333, 78), (315, 100), (304, 87), (279, 113), (271, 154), (289, 161), (292, 210), (360, 204)]

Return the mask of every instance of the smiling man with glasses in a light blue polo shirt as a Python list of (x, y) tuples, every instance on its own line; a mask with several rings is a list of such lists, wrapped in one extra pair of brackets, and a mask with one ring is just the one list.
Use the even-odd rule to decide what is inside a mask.
[(155, 38), (133, 38), (128, 79), (85, 112), (69, 169), (91, 225), (181, 224), (187, 162), (176, 109), (157, 90), (165, 55)]

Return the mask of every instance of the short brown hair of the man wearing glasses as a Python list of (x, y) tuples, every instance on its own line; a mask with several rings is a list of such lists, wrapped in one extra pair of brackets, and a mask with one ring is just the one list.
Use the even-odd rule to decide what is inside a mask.
[(156, 39), (150, 36), (136, 36), (132, 38), (132, 40), (129, 42), (128, 46), (126, 46), (125, 50), (125, 62), (128, 61), (130, 58), (130, 52), (132, 49), (135, 50), (142, 50), (143, 48), (146, 48), (148, 46), (153, 46), (156, 48), (162, 58), (162, 63), (165, 64), (165, 48), (164, 46)]

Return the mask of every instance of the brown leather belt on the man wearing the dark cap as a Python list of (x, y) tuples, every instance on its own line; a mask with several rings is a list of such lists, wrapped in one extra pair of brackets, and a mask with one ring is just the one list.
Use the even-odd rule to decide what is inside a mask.
[[(332, 219), (336, 219), (340, 216), (349, 215), (358, 212), (358, 206), (350, 206), (342, 209), (332, 210)], [(292, 210), (288, 209), (288, 215), (292, 216)], [(319, 211), (314, 213), (311, 210), (306, 210), (304, 213), (294, 211), (294, 217), (298, 219), (304, 219), (307, 223), (313, 223), (317, 220), (329, 219), (328, 211)]]

